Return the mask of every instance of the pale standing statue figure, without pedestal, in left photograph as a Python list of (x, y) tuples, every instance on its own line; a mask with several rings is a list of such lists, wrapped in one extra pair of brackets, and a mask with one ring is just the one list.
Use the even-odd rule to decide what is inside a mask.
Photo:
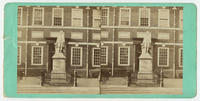
[(62, 53), (65, 44), (65, 33), (60, 31), (59, 35), (57, 35), (56, 43), (55, 43), (55, 50), (58, 53)]

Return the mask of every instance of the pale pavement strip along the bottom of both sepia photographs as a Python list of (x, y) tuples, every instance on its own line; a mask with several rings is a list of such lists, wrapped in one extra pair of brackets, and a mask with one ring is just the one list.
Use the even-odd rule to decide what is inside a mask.
[(182, 79), (165, 79), (164, 87), (45, 87), (40, 77), (26, 77), (17, 83), (17, 93), (39, 94), (182, 94)]

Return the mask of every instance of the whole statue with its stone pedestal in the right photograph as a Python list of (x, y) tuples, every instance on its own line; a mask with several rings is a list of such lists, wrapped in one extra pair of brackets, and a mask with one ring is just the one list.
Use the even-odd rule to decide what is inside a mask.
[(153, 84), (153, 66), (151, 56), (151, 33), (146, 32), (141, 44), (142, 54), (139, 57), (139, 71), (137, 75), (137, 85)]

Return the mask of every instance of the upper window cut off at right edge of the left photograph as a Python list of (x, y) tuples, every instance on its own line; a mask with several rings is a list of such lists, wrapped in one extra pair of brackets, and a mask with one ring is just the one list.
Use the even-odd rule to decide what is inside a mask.
[(93, 27), (100, 27), (101, 25), (101, 12), (100, 10), (93, 10)]

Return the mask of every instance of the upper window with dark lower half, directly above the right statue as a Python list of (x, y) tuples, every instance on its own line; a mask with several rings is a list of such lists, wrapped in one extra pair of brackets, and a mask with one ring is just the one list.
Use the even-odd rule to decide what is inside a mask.
[(139, 9), (139, 25), (140, 26), (149, 26), (150, 25), (150, 9), (149, 8), (140, 8)]

